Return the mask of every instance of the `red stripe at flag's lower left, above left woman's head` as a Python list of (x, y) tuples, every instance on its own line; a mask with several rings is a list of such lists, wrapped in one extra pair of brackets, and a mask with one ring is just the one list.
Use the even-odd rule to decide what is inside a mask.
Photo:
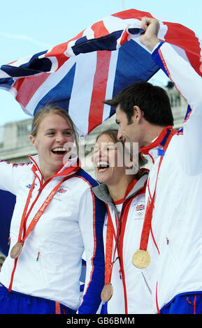
[(23, 77), (17, 80), (14, 88), (17, 90), (16, 100), (24, 107), (27, 106), (29, 100), (34, 96), (37, 89), (49, 77), (51, 73), (43, 73), (41, 75)]

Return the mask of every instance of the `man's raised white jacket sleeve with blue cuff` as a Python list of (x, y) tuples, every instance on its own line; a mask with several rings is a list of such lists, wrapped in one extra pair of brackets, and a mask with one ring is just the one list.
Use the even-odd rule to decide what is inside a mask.
[(152, 57), (157, 63), (158, 60), (159, 63), (161, 61), (159, 66), (164, 66), (176, 89), (190, 106), (189, 115), (183, 125), (183, 134), (178, 137), (176, 155), (187, 174), (199, 174), (202, 172), (202, 78), (186, 58), (182, 58), (168, 43), (163, 43), (158, 50), (154, 50)]

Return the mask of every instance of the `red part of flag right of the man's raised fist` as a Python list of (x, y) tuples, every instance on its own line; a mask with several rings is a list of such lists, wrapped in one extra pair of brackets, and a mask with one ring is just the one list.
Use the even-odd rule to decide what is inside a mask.
[(202, 75), (200, 70), (201, 46), (194, 31), (177, 23), (165, 22), (165, 24), (168, 27), (165, 41), (184, 49), (194, 70)]

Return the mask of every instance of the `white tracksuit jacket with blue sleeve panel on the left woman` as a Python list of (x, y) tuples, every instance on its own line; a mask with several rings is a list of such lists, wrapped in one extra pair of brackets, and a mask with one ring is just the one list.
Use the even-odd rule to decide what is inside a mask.
[[(10, 249), (17, 242), (22, 211), (34, 177), (37, 179), (29, 207), (39, 188), (41, 194), (31, 210), (27, 226), (50, 191), (66, 176), (66, 167), (62, 167), (48, 184), (44, 184), (38, 156), (31, 161), (24, 165), (0, 163), (0, 188), (16, 195), (10, 225)], [(69, 161), (68, 165), (71, 163), (75, 162)], [(85, 249), (86, 283), (78, 313), (96, 313), (104, 283), (102, 229), (106, 213), (105, 206), (92, 193), (92, 187), (96, 185), (97, 182), (82, 169), (62, 183), (24, 242), (22, 253), (17, 258), (12, 290), (52, 299), (77, 310), (81, 301), (80, 273)], [(9, 250), (0, 273), (0, 282), (6, 288), (10, 285), (14, 262)]]

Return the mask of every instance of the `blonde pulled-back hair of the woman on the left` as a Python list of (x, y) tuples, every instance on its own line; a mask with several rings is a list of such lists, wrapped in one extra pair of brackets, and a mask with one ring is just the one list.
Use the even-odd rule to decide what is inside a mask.
[(73, 123), (73, 121), (72, 121), (71, 117), (69, 116), (68, 112), (66, 112), (66, 110), (64, 110), (62, 107), (47, 105), (47, 106), (41, 108), (40, 110), (38, 110), (36, 112), (36, 114), (34, 115), (34, 119), (32, 121), (31, 135), (33, 137), (36, 137), (38, 127), (41, 124), (41, 121), (48, 114), (57, 114), (57, 115), (60, 115), (61, 117), (63, 117), (66, 120), (68, 125), (71, 127), (71, 131), (73, 133), (73, 140), (75, 141), (76, 149), (78, 151), (78, 133), (77, 133), (75, 124)]

